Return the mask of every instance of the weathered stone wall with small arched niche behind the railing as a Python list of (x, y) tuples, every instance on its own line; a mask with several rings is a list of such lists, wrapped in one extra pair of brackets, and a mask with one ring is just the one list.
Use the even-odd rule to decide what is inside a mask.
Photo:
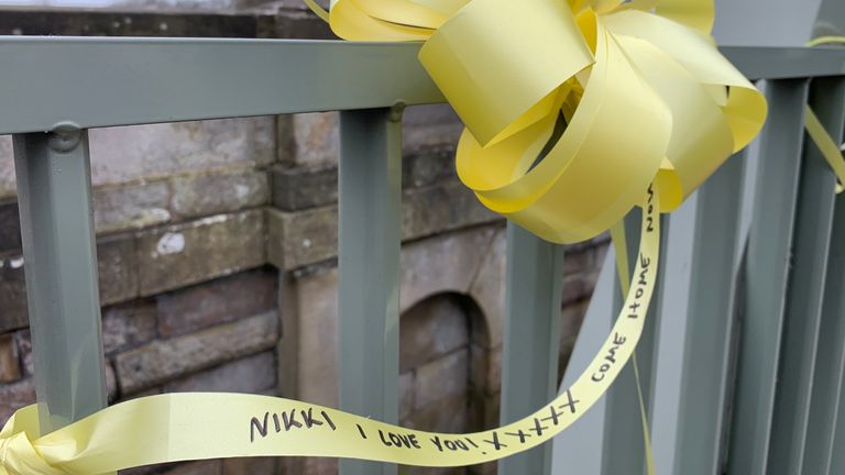
[[(20, 26), (26, 24), (101, 32), (118, 21), (114, 14), (45, 21), (19, 13), (17, 22), (3, 14), (0, 33), (35, 31)], [(171, 34), (213, 35), (204, 30), (208, 24), (156, 15), (120, 21), (130, 18), (140, 34), (147, 30), (138, 25), (166, 20)], [(241, 25), (245, 36), (326, 35), (299, 10), (246, 19), (221, 24)], [(233, 35), (230, 26), (219, 26), (219, 35)], [(337, 406), (337, 113), (314, 113), (91, 131), (110, 401), (223, 390)], [(409, 108), (404, 123), (402, 422), (441, 431), (492, 427), (501, 386), (504, 222), (454, 174), (461, 126), (448, 107)], [(11, 144), (0, 137), (0, 423), (35, 397), (19, 228)], [(567, 254), (562, 364), (604, 244), (599, 239)], [(325, 459), (257, 459), (128, 473), (332, 474), (336, 466)]]

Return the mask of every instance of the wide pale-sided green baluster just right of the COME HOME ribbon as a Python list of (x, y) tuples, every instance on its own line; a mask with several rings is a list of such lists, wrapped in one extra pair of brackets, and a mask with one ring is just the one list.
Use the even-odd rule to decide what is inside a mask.
[(732, 157), (669, 220), (652, 415), (659, 473), (721, 473), (745, 165), (744, 153)]

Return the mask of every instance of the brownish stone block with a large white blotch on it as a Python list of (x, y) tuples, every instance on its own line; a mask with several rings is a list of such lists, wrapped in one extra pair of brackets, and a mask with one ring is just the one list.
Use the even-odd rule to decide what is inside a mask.
[(218, 214), (143, 232), (138, 238), (141, 295), (260, 267), (265, 262), (262, 210)]

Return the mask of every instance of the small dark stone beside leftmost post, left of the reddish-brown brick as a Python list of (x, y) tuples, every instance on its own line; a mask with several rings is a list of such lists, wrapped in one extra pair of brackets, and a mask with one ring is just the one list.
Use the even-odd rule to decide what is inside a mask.
[(154, 300), (140, 300), (102, 309), (102, 346), (106, 354), (127, 351), (156, 338)]

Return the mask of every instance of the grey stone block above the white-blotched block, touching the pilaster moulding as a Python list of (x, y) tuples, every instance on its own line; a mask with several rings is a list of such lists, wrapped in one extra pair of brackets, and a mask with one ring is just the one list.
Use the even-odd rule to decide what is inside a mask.
[(267, 174), (256, 169), (180, 175), (171, 180), (172, 210), (195, 218), (254, 208), (270, 201)]

